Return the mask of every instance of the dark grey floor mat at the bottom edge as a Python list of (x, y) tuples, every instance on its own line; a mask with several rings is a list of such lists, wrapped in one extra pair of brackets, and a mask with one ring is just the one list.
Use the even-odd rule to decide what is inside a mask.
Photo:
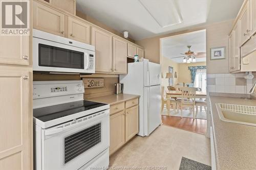
[(182, 157), (179, 170), (211, 170), (211, 166)]

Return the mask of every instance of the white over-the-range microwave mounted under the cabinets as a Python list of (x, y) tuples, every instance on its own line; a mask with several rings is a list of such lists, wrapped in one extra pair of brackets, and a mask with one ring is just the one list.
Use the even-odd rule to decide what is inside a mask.
[(95, 46), (33, 29), (33, 71), (95, 73)]

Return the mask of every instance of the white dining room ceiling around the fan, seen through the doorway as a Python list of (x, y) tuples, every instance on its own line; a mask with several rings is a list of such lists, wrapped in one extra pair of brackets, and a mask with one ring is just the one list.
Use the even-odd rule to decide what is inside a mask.
[[(206, 52), (206, 32), (205, 30), (180, 34), (172, 37), (161, 39), (161, 54), (166, 58), (184, 56), (188, 51), (187, 45), (192, 45), (191, 51), (195, 53)], [(183, 62), (183, 57), (172, 59), (177, 63)], [(196, 58), (197, 62), (205, 62), (206, 57)]]

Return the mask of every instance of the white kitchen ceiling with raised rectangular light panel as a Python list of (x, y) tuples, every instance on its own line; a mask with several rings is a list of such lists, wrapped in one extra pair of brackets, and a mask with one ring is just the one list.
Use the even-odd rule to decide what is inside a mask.
[(76, 8), (140, 40), (198, 25), (229, 20), (243, 0), (76, 0)]

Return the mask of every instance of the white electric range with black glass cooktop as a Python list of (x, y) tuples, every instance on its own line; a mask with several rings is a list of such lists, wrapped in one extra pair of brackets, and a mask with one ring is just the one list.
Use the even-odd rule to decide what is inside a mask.
[(34, 169), (109, 166), (108, 104), (83, 100), (82, 81), (34, 81)]

